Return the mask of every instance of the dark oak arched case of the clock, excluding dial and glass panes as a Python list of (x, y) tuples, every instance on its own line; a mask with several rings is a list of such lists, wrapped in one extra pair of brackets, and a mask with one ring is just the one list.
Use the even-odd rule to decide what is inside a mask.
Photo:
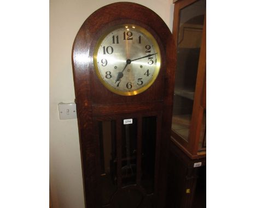
[[(147, 29), (156, 39), (161, 51), (161, 67), (155, 82), (143, 93), (132, 96), (114, 94), (98, 79), (93, 54), (98, 38), (109, 27), (135, 24)], [(171, 118), (174, 88), (176, 50), (173, 36), (165, 22), (154, 11), (136, 4), (119, 2), (106, 5), (85, 20), (75, 37), (72, 49), (75, 102), (79, 128), (80, 153), (86, 207), (116, 207), (123, 193), (138, 191), (142, 197), (136, 207), (164, 207), (166, 194), (166, 143), (171, 136)], [(155, 118), (154, 188), (148, 194), (141, 185), (143, 119)], [(136, 120), (136, 179), (124, 185), (122, 145), (123, 120)], [(117, 189), (102, 203), (101, 139), (102, 122), (115, 123), (115, 174)], [(150, 127), (147, 126), (146, 129)], [(144, 127), (145, 128), (145, 127)], [(149, 128), (151, 129), (151, 127)], [(147, 130), (146, 130), (147, 131)], [(123, 143), (123, 144), (122, 144)], [(113, 150), (112, 150), (113, 151)], [(106, 190), (105, 190), (106, 191)], [(127, 197), (126, 197), (127, 199)], [(127, 199), (128, 200), (128, 199)]]

